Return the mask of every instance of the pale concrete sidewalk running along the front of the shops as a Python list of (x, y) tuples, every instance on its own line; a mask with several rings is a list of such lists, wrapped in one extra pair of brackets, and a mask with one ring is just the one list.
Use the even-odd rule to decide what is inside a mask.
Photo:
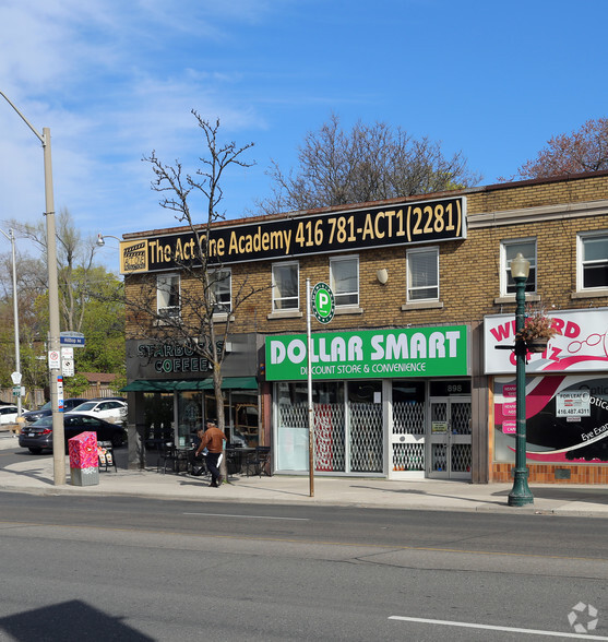
[[(17, 441), (0, 432), (0, 451), (15, 448)], [(35, 495), (128, 496), (150, 499), (234, 501), (243, 503), (356, 506), (396, 510), (486, 511), (500, 513), (557, 514), (608, 518), (608, 488), (581, 485), (530, 485), (534, 504), (512, 508), (506, 503), (511, 484), (468, 484), (420, 479), (392, 482), (371, 477), (314, 477), (310, 497), (308, 476), (230, 476), (228, 484), (210, 488), (208, 479), (186, 473), (157, 473), (155, 467), (129, 471), (126, 449), (118, 451), (118, 472), (99, 472), (96, 486), (72, 486), (65, 465), (67, 484), (53, 485), (51, 456), (4, 465), (0, 456), (0, 491)], [(1, 455), (1, 452), (0, 452)], [(124, 465), (124, 464), (123, 464)]]

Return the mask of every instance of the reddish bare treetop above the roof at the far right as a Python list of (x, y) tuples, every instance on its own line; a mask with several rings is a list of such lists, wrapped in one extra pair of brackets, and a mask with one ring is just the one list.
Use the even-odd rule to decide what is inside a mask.
[(587, 120), (569, 134), (552, 136), (536, 158), (524, 163), (514, 176), (500, 180), (546, 178), (601, 169), (608, 169), (608, 118)]

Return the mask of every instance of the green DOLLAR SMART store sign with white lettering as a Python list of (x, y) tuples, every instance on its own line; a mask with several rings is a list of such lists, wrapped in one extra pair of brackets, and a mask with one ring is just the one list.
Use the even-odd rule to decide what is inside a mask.
[[(266, 379), (307, 379), (306, 334), (266, 337)], [(458, 377), (468, 372), (466, 325), (312, 335), (313, 379)]]

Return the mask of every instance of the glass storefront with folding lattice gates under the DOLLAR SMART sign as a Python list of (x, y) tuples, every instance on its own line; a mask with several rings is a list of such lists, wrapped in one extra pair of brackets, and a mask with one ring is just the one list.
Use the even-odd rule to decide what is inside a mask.
[[(383, 407), (385, 404), (380, 403), (314, 404), (315, 471), (368, 475), (388, 472), (396, 479), (470, 478), (470, 397), (391, 404), (386, 466)], [(299, 448), (308, 453), (308, 405), (277, 404), (276, 408), (278, 435), (282, 430), (298, 430)], [(302, 453), (299, 461), (300, 469), (306, 469), (308, 455)]]

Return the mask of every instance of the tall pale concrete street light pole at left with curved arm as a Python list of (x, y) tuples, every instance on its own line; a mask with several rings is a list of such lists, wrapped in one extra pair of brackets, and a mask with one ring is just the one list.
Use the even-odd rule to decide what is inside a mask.
[[(23, 114), (13, 105), (10, 98), (0, 92), (0, 96), (17, 112), (25, 124), (34, 132), (43, 144), (45, 168), (45, 216), (47, 218), (47, 268), (48, 268), (48, 308), (49, 308), (49, 350), (60, 354), (59, 338), (59, 278), (57, 276), (57, 238), (55, 228), (55, 204), (52, 197), (52, 165), (50, 156), (50, 129), (43, 128), (43, 133), (31, 124)], [(63, 416), (59, 411), (59, 380), (61, 367), (51, 367), (50, 362), (50, 407), (52, 409), (52, 466), (53, 484), (65, 484), (65, 432), (63, 430)], [(61, 396), (63, 390), (61, 388)]]

